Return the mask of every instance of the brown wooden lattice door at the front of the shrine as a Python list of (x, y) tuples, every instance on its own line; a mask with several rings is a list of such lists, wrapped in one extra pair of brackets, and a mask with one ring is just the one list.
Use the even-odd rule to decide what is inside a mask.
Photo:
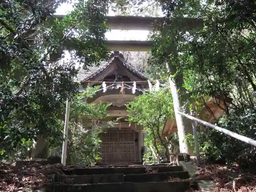
[(136, 133), (130, 129), (110, 129), (101, 134), (101, 162), (136, 162), (138, 146)]

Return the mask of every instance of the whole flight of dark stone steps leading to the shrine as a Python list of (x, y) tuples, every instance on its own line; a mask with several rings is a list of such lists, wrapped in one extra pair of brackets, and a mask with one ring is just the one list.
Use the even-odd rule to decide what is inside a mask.
[(182, 166), (73, 167), (63, 169), (62, 172), (62, 175), (54, 176), (55, 184), (49, 186), (47, 191), (183, 192), (191, 187), (190, 182), (184, 180), (189, 178), (189, 174)]

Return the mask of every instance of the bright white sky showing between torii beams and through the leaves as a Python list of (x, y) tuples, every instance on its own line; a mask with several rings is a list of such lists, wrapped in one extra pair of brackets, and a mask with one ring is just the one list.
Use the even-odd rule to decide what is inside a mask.
[[(65, 15), (72, 11), (72, 6), (70, 4), (62, 4), (56, 10), (57, 15)], [(113, 11), (110, 11), (109, 15), (115, 15)], [(139, 31), (139, 30), (112, 30), (105, 34), (106, 39), (108, 40), (147, 40), (148, 31)]]

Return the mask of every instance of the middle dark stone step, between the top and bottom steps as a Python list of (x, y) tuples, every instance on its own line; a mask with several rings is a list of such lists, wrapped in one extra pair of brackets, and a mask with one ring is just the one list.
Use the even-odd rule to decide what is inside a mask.
[(109, 174), (109, 175), (80, 175), (80, 176), (60, 176), (55, 182), (67, 184), (96, 184), (96, 183), (122, 183), (122, 182), (160, 182), (168, 181), (170, 178), (189, 178), (188, 172), (169, 172), (151, 174)]

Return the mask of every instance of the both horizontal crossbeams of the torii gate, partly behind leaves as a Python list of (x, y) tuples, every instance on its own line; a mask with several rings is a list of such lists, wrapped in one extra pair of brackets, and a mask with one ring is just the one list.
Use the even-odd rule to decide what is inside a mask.
[[(63, 19), (64, 15), (53, 15), (47, 18), (47, 25), (51, 25), (54, 19)], [(159, 29), (164, 17), (142, 17), (142, 16), (106, 16), (106, 26), (111, 30), (148, 30)], [(180, 18), (173, 19), (168, 27), (178, 27), (181, 30), (202, 28), (201, 18)], [(106, 40), (106, 46), (111, 51), (150, 51), (153, 42), (150, 40)]]

